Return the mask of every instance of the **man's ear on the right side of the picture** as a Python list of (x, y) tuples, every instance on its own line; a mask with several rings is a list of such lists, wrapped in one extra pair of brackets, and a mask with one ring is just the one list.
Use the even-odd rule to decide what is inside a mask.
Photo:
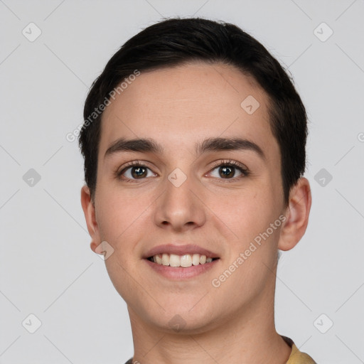
[(289, 205), (279, 236), (278, 249), (291, 250), (301, 240), (309, 223), (311, 188), (307, 178), (299, 178), (289, 193)]

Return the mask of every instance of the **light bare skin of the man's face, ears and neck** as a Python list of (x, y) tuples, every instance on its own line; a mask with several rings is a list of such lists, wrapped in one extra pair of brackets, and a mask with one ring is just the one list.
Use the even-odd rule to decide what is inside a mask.
[[(260, 106), (240, 106), (252, 95)], [(104, 158), (119, 137), (152, 138), (162, 154), (119, 152)], [(210, 151), (195, 144), (210, 137), (242, 137), (252, 150)], [(250, 174), (223, 178), (213, 162), (237, 161)], [(149, 168), (146, 178), (114, 176), (129, 161)], [(173, 186), (180, 168), (187, 179)], [(214, 168), (214, 169), (213, 169)], [(300, 178), (284, 205), (279, 145), (269, 127), (268, 97), (232, 66), (188, 63), (144, 72), (102, 116), (95, 201), (87, 186), (81, 203), (95, 252), (107, 241), (105, 260), (115, 289), (127, 302), (139, 363), (286, 363), (291, 348), (274, 327), (277, 250), (290, 250), (304, 235), (311, 208), (309, 181)], [(124, 176), (135, 176), (129, 168)], [(234, 172), (232, 172), (234, 173)], [(242, 177), (240, 177), (242, 176)], [(284, 215), (282, 225), (238, 269), (213, 287), (259, 233)], [(218, 254), (212, 269), (181, 281), (154, 272), (142, 257), (171, 242), (197, 244)], [(176, 332), (168, 324), (183, 319)]]

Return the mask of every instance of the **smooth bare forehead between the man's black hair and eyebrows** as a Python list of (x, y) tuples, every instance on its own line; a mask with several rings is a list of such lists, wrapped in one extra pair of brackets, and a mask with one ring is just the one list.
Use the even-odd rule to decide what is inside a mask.
[(166, 150), (193, 150), (196, 141), (210, 137), (244, 137), (263, 144), (267, 155), (277, 152), (267, 95), (231, 65), (188, 63), (141, 72), (110, 101), (99, 156), (119, 137), (156, 139)]

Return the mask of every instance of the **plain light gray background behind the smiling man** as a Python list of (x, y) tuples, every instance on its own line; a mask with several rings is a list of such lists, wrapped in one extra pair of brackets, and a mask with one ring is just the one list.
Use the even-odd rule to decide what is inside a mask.
[(364, 363), (363, 0), (0, 1), (0, 363), (132, 356), (126, 305), (90, 250), (77, 141), (65, 135), (111, 55), (162, 16), (236, 23), (289, 68), (309, 113), (313, 205), (279, 262), (277, 331), (320, 364)]

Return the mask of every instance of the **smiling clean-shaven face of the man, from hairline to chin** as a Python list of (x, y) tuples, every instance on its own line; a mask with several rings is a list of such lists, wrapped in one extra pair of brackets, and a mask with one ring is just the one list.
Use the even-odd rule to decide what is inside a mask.
[(107, 106), (87, 226), (92, 250), (113, 249), (107, 272), (132, 320), (197, 332), (262, 308), (285, 219), (280, 171), (267, 95), (232, 66), (141, 73)]

